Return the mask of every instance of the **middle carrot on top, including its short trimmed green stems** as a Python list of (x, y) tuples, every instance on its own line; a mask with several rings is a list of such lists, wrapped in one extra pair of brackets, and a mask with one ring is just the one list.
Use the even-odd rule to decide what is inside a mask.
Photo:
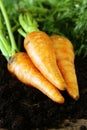
[(54, 48), (50, 37), (38, 29), (37, 22), (30, 13), (20, 14), (19, 22), (23, 30), (19, 29), (24, 39), (24, 48), (33, 64), (58, 89), (65, 89), (65, 82), (57, 66)]

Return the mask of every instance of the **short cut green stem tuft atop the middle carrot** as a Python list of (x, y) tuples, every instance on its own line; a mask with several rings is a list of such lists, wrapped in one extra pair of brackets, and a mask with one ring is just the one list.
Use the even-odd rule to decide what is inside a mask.
[(19, 28), (18, 32), (23, 37), (26, 37), (27, 33), (39, 31), (37, 21), (33, 19), (32, 15), (29, 12), (19, 15), (19, 23), (22, 28)]

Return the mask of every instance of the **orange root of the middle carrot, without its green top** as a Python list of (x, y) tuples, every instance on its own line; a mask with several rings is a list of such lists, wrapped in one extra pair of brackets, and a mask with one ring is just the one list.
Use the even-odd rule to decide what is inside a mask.
[(65, 90), (50, 37), (42, 31), (31, 32), (24, 40), (24, 48), (39, 71), (58, 89)]

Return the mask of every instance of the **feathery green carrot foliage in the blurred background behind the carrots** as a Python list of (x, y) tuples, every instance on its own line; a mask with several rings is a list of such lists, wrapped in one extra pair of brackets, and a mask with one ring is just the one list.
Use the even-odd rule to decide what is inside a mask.
[(13, 26), (19, 27), (19, 14), (29, 11), (41, 30), (68, 37), (76, 55), (87, 56), (87, 0), (3, 1)]

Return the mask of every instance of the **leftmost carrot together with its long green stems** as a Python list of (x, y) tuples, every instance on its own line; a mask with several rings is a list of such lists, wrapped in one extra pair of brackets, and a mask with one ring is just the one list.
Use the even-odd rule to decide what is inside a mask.
[(6, 14), (6, 10), (1, 0), (0, 8), (5, 19), (10, 38), (10, 42), (8, 42), (3, 33), (4, 25), (0, 19), (0, 50), (8, 61), (7, 68), (9, 72), (15, 75), (17, 79), (19, 79), (22, 83), (37, 88), (53, 101), (57, 103), (64, 103), (64, 98), (61, 93), (33, 65), (27, 53), (19, 51), (18, 47), (16, 46), (13, 33), (11, 31), (11, 26)]

